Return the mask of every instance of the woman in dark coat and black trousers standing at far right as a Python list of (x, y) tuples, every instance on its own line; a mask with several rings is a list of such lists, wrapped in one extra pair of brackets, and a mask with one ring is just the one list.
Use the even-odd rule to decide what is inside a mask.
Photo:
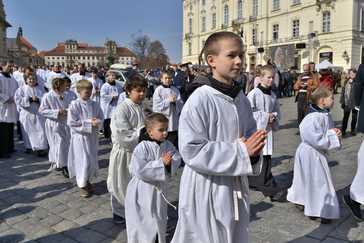
[(354, 106), (354, 81), (356, 76), (356, 69), (350, 68), (349, 69), (349, 78), (345, 80), (343, 89), (341, 90), (341, 97), (340, 97), (340, 104), (341, 108), (344, 109), (344, 118), (343, 118), (343, 127), (341, 132), (343, 135), (346, 134), (346, 129), (348, 127), (348, 120), (351, 111), (351, 134), (356, 135), (355, 127), (357, 122), (358, 111), (355, 109)]

